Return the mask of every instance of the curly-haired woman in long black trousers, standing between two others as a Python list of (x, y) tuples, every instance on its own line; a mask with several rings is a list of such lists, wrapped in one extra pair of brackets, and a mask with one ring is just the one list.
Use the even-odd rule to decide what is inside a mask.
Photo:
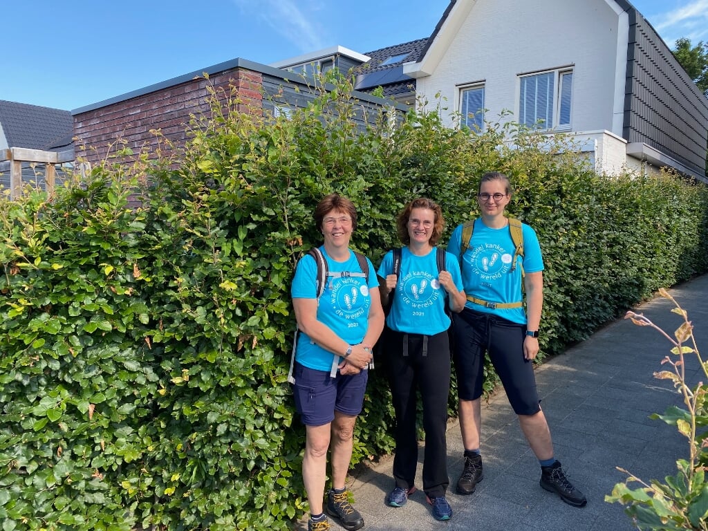
[[(378, 270), (384, 306), (391, 298), (382, 353), (396, 413), (393, 467), (396, 485), (387, 503), (401, 507), (409, 494), (416, 491), (413, 481), (418, 464), (417, 388), (423, 402), (426, 434), (423, 490), (432, 506), (433, 518), (449, 520), (452, 509), (445, 498), (450, 482), (445, 430), (450, 394), (447, 336), (450, 316), (446, 307), (453, 312), (464, 307), (462, 278), (455, 257), (435, 247), (445, 226), (440, 206), (435, 202), (426, 198), (410, 202), (399, 215), (396, 226), (404, 244), (400, 258), (394, 258), (394, 251), (389, 251)], [(442, 253), (440, 261), (438, 253)], [(397, 267), (396, 260), (400, 262)]]

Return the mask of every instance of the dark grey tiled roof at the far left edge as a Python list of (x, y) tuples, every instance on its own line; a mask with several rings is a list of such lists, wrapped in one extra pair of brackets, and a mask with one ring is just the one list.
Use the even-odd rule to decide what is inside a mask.
[(72, 143), (74, 119), (68, 110), (0, 100), (0, 127), (8, 147), (59, 151)]

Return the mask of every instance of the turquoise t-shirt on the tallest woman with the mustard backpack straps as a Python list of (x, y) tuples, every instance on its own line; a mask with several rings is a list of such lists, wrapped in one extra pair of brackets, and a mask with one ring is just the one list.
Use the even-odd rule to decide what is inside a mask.
[[(515, 270), (511, 271), (514, 256), (514, 242), (509, 227), (491, 229), (481, 219), (474, 222), (472, 241), (462, 257), (462, 283), (469, 297), (487, 302), (518, 302), (523, 298), (521, 267), (525, 273), (537, 273), (544, 269), (538, 236), (530, 226), (521, 224), (524, 236), (524, 256), (517, 256)], [(447, 251), (459, 258), (462, 241), (462, 225), (458, 225), (450, 236)], [(491, 309), (467, 301), (466, 306), (476, 312), (495, 314), (514, 323), (526, 324), (523, 307)]]

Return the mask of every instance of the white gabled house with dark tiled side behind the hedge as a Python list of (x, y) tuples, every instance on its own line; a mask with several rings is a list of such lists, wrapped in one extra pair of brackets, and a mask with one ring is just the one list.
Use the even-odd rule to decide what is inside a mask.
[(452, 0), (402, 67), (473, 129), (510, 111), (575, 135), (598, 171), (670, 166), (707, 181), (708, 100), (628, 1)]

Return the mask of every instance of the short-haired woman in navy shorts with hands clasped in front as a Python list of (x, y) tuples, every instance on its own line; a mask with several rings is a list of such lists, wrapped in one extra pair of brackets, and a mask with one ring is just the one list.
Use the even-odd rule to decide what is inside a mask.
[(384, 312), (372, 263), (362, 259), (368, 268), (362, 271), (349, 249), (357, 224), (353, 203), (328, 195), (317, 205), (314, 221), (324, 236), (319, 251), (329, 270), (324, 292), (318, 296), (317, 263), (309, 254), (297, 263), (291, 290), (299, 330), (293, 393), (306, 432), (302, 478), (310, 506), (308, 530), (330, 528), (323, 503), (329, 450), (332, 489), (326, 511), (354, 531), (364, 527), (364, 520), (348, 501), (345, 481), (371, 349), (384, 327)]

